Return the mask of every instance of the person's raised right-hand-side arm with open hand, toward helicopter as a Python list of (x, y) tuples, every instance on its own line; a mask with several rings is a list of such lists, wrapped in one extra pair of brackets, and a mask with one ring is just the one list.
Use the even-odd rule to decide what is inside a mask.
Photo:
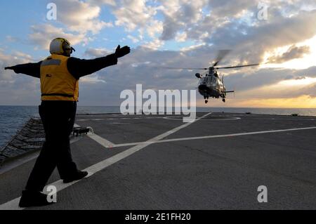
[(79, 59), (79, 58), (69, 58), (67, 61), (67, 68), (70, 74), (76, 79), (84, 77), (88, 74), (93, 74), (98, 72), (105, 67), (111, 65), (117, 65), (117, 58), (121, 58), (124, 55), (131, 52), (128, 46), (121, 48), (117, 47), (117, 51), (111, 55), (107, 55), (102, 58), (96, 58), (91, 60)]

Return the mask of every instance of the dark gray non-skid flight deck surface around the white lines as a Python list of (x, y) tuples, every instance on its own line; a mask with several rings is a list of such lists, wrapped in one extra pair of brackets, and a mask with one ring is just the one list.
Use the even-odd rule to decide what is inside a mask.
[[(76, 123), (114, 144), (136, 143), (184, 124), (164, 117), (99, 114)], [(214, 113), (58, 192), (57, 204), (34, 209), (316, 209), (316, 129), (175, 140), (312, 126), (314, 117)], [(131, 147), (106, 148), (86, 136), (72, 152), (84, 169)], [(0, 175), (0, 204), (20, 196), (33, 164)], [(258, 203), (259, 185), (268, 187), (268, 203)]]

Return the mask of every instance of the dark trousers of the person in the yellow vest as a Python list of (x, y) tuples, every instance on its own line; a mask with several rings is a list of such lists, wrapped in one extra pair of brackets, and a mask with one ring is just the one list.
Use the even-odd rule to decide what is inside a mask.
[(76, 110), (77, 103), (70, 101), (42, 101), (39, 105), (46, 141), (27, 180), (26, 190), (42, 191), (56, 166), (61, 179), (77, 174), (69, 137)]

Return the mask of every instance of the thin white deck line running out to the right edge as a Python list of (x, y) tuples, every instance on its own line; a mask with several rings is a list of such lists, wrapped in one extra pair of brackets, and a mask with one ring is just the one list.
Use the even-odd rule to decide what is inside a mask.
[[(152, 142), (152, 144), (157, 143), (169, 143), (169, 142), (176, 142), (181, 140), (199, 140), (199, 139), (206, 139), (206, 138), (225, 138), (225, 137), (234, 137), (234, 136), (251, 136), (251, 135), (258, 135), (264, 133), (275, 133), (275, 132), (287, 132), (287, 131), (300, 131), (300, 130), (308, 130), (308, 129), (316, 129), (316, 126), (307, 127), (307, 128), (298, 128), (298, 129), (281, 129), (281, 130), (270, 130), (270, 131), (254, 131), (254, 132), (245, 132), (245, 133), (231, 133), (231, 134), (224, 134), (224, 135), (217, 135), (217, 136), (199, 136), (199, 137), (188, 137), (188, 138), (171, 138), (165, 140), (157, 140)], [(131, 146), (131, 145), (141, 145), (146, 142), (138, 142), (138, 143), (121, 143), (115, 144), (113, 147), (124, 147), (124, 146)]]

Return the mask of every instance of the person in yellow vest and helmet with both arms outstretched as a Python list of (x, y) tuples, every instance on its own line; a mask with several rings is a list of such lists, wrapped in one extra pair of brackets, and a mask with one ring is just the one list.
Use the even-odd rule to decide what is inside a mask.
[(39, 115), (44, 125), (46, 142), (22, 192), (20, 207), (51, 204), (42, 191), (56, 166), (64, 183), (88, 175), (86, 171), (77, 169), (70, 152), (69, 136), (76, 116), (79, 79), (105, 67), (117, 65), (117, 58), (131, 50), (128, 46), (118, 46), (115, 53), (93, 60), (70, 57), (73, 51), (67, 39), (56, 38), (51, 41), (51, 55), (45, 60), (5, 68), (41, 80)]

